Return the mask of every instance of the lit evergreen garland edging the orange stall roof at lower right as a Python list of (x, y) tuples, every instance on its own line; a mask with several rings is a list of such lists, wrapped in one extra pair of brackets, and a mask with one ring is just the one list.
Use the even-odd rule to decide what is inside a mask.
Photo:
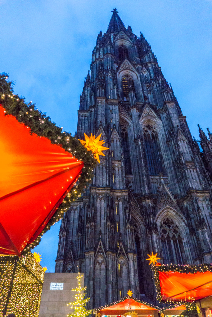
[[(179, 273), (197, 273), (197, 272), (212, 272), (212, 265), (210, 264), (200, 264), (200, 265), (178, 265), (178, 264), (162, 264), (160, 266), (153, 265), (152, 267), (154, 272), (154, 284), (157, 293), (157, 300), (162, 301), (161, 295), (161, 285), (159, 279), (159, 273), (164, 271), (172, 271), (172, 272), (179, 272)], [(169, 303), (173, 303), (172, 300), (169, 300)], [(176, 302), (177, 305), (188, 305), (186, 301), (178, 301)], [(176, 306), (175, 306), (176, 307)]]

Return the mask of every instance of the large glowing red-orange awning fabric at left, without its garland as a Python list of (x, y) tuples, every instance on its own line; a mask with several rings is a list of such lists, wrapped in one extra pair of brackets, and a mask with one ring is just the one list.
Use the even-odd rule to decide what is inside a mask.
[(0, 106), (0, 254), (17, 254), (42, 232), (84, 163), (29, 133)]

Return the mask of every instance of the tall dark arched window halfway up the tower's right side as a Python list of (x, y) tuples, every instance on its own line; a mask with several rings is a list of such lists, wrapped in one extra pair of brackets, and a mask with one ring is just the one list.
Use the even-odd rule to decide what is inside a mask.
[(143, 135), (149, 173), (158, 175), (163, 171), (158, 134), (153, 126), (147, 125), (143, 129)]

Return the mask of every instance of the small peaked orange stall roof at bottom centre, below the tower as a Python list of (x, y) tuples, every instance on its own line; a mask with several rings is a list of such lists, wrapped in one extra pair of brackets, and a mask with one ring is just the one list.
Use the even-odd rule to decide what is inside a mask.
[(97, 313), (97, 316), (99, 313), (100, 316), (117, 316), (123, 315), (125, 313), (130, 314), (130, 312), (135, 312), (137, 315), (158, 316), (158, 309), (159, 307), (156, 307), (143, 301), (139, 301), (133, 297), (125, 297), (117, 303), (99, 307), (98, 309), (95, 309), (93, 313)]

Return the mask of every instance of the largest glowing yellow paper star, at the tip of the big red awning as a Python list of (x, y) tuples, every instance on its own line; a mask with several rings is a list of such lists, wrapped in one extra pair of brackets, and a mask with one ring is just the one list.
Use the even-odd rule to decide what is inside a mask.
[(93, 136), (91, 133), (91, 136), (88, 137), (85, 133), (85, 141), (78, 139), (82, 145), (85, 146), (85, 148), (88, 151), (92, 151), (94, 153), (94, 158), (100, 163), (99, 155), (105, 156), (105, 154), (102, 152), (104, 150), (109, 150), (108, 147), (102, 146), (105, 142), (103, 140), (99, 140), (101, 137), (101, 133), (98, 135), (97, 138), (95, 138), (95, 135)]

